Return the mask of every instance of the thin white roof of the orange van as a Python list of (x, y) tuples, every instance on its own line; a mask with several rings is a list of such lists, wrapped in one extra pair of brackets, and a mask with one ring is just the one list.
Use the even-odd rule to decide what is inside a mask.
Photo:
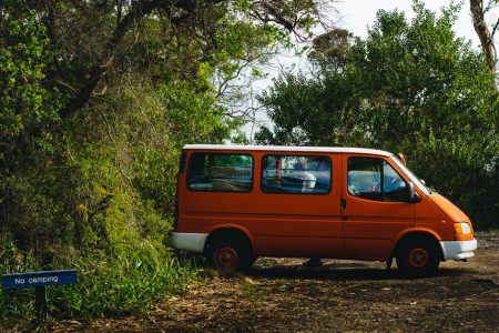
[(284, 152), (328, 152), (328, 153), (361, 153), (381, 157), (393, 155), (390, 152), (369, 148), (348, 147), (289, 147), (289, 145), (240, 145), (240, 144), (186, 144), (189, 150), (241, 150), (241, 151), (284, 151)]

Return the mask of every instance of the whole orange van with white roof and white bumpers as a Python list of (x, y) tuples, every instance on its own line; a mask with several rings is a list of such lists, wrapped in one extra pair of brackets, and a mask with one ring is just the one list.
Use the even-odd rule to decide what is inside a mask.
[(424, 276), (477, 249), (456, 205), (394, 154), (360, 148), (185, 145), (172, 235), (225, 273), (258, 256), (395, 258)]

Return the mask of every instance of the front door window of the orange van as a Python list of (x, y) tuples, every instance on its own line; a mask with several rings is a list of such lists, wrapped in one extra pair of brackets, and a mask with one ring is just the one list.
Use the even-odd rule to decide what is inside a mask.
[(407, 183), (385, 161), (375, 158), (348, 159), (348, 193), (368, 200), (406, 201)]

